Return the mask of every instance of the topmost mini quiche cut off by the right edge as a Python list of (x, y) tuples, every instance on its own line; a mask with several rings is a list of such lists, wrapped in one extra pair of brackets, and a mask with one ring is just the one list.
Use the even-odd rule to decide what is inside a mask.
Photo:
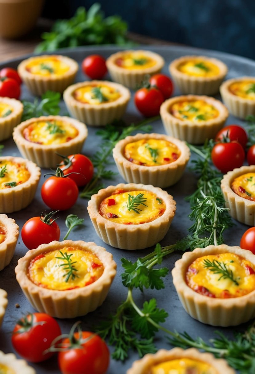
[(241, 119), (255, 115), (255, 77), (228, 79), (219, 91), (231, 114)]

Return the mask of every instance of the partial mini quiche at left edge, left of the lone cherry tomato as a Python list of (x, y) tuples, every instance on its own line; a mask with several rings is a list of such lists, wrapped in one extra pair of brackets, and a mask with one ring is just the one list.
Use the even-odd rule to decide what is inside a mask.
[(0, 214), (0, 270), (9, 265), (17, 244), (19, 226), (6, 214)]

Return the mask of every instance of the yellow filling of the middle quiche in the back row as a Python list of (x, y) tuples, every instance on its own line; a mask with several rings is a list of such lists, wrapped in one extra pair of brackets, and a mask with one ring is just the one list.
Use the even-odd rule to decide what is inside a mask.
[(130, 52), (123, 53), (122, 57), (115, 60), (115, 64), (127, 70), (143, 70), (156, 65), (156, 61), (141, 52)]

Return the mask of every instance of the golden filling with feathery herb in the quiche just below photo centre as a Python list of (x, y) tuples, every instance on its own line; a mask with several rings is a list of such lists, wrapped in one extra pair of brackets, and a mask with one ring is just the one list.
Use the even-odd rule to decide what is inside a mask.
[(99, 214), (107, 220), (126, 225), (139, 225), (159, 218), (166, 210), (165, 202), (151, 191), (117, 189), (104, 199)]

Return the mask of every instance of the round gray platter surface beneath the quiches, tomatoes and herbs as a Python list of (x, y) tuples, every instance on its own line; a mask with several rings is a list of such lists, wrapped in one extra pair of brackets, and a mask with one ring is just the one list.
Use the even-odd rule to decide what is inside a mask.
[[(166, 64), (163, 68), (163, 73), (168, 74), (168, 64), (175, 58), (178, 58), (183, 55), (205, 55), (221, 59), (225, 64), (227, 64), (229, 72), (227, 78), (238, 77), (238, 76), (254, 76), (255, 75), (255, 62), (246, 58), (239, 56), (229, 55), (227, 53), (221, 53), (210, 50), (195, 49), (190, 47), (178, 47), (178, 46), (143, 46), (144, 49), (150, 49), (154, 52), (159, 53), (165, 58)], [(141, 48), (141, 47), (139, 47)], [(64, 49), (59, 50), (59, 54), (67, 55), (71, 58), (74, 58), (79, 64), (82, 60), (90, 54), (98, 53), (103, 55), (105, 58), (110, 56), (112, 53), (120, 50), (120, 47), (116, 46), (102, 46), (102, 47), (79, 47), (75, 49)], [(30, 56), (30, 55), (29, 55)], [(16, 68), (19, 62), (21, 62), (25, 57), (18, 58), (15, 60), (7, 61), (0, 64), (0, 69), (6, 66)], [(81, 82), (86, 80), (81, 69), (79, 70), (76, 82)], [(178, 90), (174, 92), (175, 95), (179, 95)], [(216, 98), (220, 98), (216, 96)], [(33, 96), (27, 91), (26, 87), (22, 86), (22, 96), (21, 99), (33, 100)], [(64, 102), (61, 102), (61, 114), (67, 113)], [(133, 105), (133, 100), (131, 99), (129, 106), (127, 108), (127, 113), (125, 118), (127, 123), (138, 122), (141, 120), (141, 116)], [(243, 122), (230, 116), (227, 120), (227, 124), (236, 123), (242, 125)], [(161, 121), (153, 123), (153, 131), (164, 134), (164, 129)], [(89, 138), (86, 141), (86, 144), (83, 147), (83, 153), (88, 157), (99, 149), (101, 138), (95, 134), (95, 128), (89, 128)], [(16, 148), (16, 145), (12, 139), (3, 142), (4, 150), (3, 155), (12, 155), (19, 156), (19, 151)], [(117, 171), (115, 165), (110, 166), (113, 171)], [(9, 214), (10, 218), (14, 218), (16, 223), (19, 225), (20, 229), (24, 225), (25, 221), (31, 217), (40, 215), (47, 207), (44, 205), (42, 198), (40, 196), (40, 188), (43, 184), (44, 178), (43, 175), (48, 170), (42, 170), (42, 177), (40, 180), (39, 188), (37, 189), (36, 197), (33, 202), (28, 206), (28, 208), (23, 209), (19, 212), (14, 212)], [(120, 175), (116, 175), (113, 181), (105, 181), (105, 186), (110, 184), (123, 183), (123, 179)], [(175, 243), (177, 239), (187, 235), (187, 229), (191, 226), (190, 220), (188, 219), (188, 214), (190, 213), (190, 205), (184, 200), (184, 197), (193, 193), (196, 189), (196, 177), (193, 172), (188, 168), (186, 169), (181, 180), (168, 188), (168, 192), (173, 195), (174, 199), (177, 202), (176, 215), (174, 217), (173, 223), (170, 226), (169, 232), (166, 237), (162, 240), (162, 245), (170, 245)], [(49, 211), (49, 209), (48, 209)], [(61, 238), (66, 232), (65, 227), (65, 217), (70, 214), (75, 213), (80, 218), (85, 218), (85, 225), (73, 231), (69, 239), (72, 240), (85, 240), (86, 242), (92, 241), (98, 245), (104, 246), (108, 251), (113, 253), (114, 259), (117, 262), (118, 271), (117, 276), (114, 279), (113, 285), (110, 289), (107, 299), (105, 300), (102, 307), (99, 307), (95, 312), (89, 313), (85, 317), (77, 318), (74, 320), (58, 320), (62, 332), (69, 332), (71, 326), (77, 320), (82, 321), (83, 329), (90, 330), (93, 325), (97, 324), (99, 321), (104, 320), (110, 313), (114, 313), (117, 306), (122, 300), (126, 299), (126, 289), (121, 283), (120, 274), (122, 273), (122, 267), (120, 264), (120, 258), (126, 257), (131, 261), (135, 261), (137, 257), (142, 257), (143, 255), (149, 253), (152, 248), (145, 249), (143, 251), (124, 251), (116, 248), (112, 248), (109, 245), (104, 244), (101, 239), (96, 235), (95, 230), (93, 229), (92, 223), (89, 219), (87, 213), (87, 200), (78, 198), (76, 204), (68, 211), (60, 212), (60, 218), (58, 224), (61, 229)], [(232, 229), (227, 230), (225, 233), (225, 243), (228, 245), (239, 245), (240, 238), (247, 230), (248, 227), (236, 222), (236, 226)], [(3, 350), (5, 353), (14, 352), (11, 344), (11, 331), (15, 325), (15, 322), (21, 317), (22, 313), (34, 312), (33, 307), (28, 303), (27, 299), (23, 295), (18, 283), (15, 279), (14, 268), (20, 257), (23, 257), (27, 252), (26, 247), (24, 246), (21, 237), (19, 237), (18, 244), (16, 246), (15, 255), (10, 263), (4, 270), (0, 273), (0, 288), (3, 288), (8, 293), (8, 307), (6, 310), (6, 315), (4, 317), (3, 325), (0, 331), (0, 350)], [(164, 266), (168, 267), (171, 270), (174, 266), (175, 261), (181, 257), (181, 253), (175, 253), (170, 255), (168, 258), (165, 258), (163, 261)], [(192, 319), (182, 308), (181, 303), (179, 302), (178, 296), (176, 294), (175, 288), (172, 284), (172, 277), (169, 275), (165, 279), (165, 289), (162, 291), (147, 290), (144, 294), (137, 292), (135, 294), (136, 301), (141, 305), (145, 300), (149, 300), (152, 297), (155, 297), (158, 301), (160, 308), (164, 308), (169, 313), (169, 317), (166, 321), (166, 328), (170, 330), (178, 330), (180, 332), (187, 331), (191, 336), (196, 337), (200, 336), (205, 340), (209, 340), (213, 337), (213, 332), (215, 331), (214, 327), (203, 325), (198, 321)], [(18, 303), (20, 308), (16, 308), (15, 304)], [(242, 325), (237, 329), (241, 331), (245, 329), (247, 325)], [(232, 328), (220, 328), (220, 331), (223, 331), (227, 336), (232, 336)], [(167, 343), (166, 338), (163, 333), (156, 334), (155, 342), (158, 348), (169, 349), (170, 345)], [(126, 370), (131, 367), (132, 362), (138, 359), (138, 354), (136, 352), (130, 352), (130, 358), (123, 364), (111, 360), (109, 370), (107, 374), (124, 374)], [(37, 374), (46, 374), (60, 373), (58, 370), (56, 357), (51, 358), (50, 360), (43, 362), (41, 364), (31, 364), (36, 369)], [(90, 374), (90, 373), (85, 373)]]

